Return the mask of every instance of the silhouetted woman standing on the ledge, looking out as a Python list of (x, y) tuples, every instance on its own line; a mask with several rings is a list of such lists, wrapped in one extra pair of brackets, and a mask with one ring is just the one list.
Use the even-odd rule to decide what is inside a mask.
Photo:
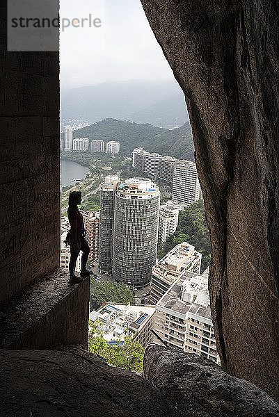
[[(90, 272), (86, 270), (86, 262), (89, 255), (89, 245), (86, 240), (86, 230), (84, 229), (83, 215), (79, 211), (77, 204), (81, 204), (81, 191), (72, 191), (69, 195), (69, 207), (67, 209), (67, 217), (70, 222), (70, 248), (71, 259), (69, 263), (70, 282), (81, 282), (84, 277), (90, 275)], [(80, 277), (74, 275), (76, 268), (77, 257), (79, 251), (82, 251), (81, 256), (81, 274)]]

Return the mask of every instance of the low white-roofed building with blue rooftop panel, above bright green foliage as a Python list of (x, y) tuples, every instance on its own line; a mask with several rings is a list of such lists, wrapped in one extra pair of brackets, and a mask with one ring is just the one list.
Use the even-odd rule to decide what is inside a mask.
[(135, 306), (106, 303), (97, 312), (92, 311), (89, 319), (97, 320), (101, 325), (104, 339), (111, 345), (122, 345), (125, 336), (146, 347), (152, 341), (152, 318), (155, 306)]

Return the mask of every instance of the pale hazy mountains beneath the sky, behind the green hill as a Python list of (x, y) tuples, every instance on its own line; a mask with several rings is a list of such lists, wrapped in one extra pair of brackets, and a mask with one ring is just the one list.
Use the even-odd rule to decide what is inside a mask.
[(150, 123), (173, 129), (189, 120), (176, 81), (121, 81), (62, 90), (62, 127), (71, 120), (94, 123), (104, 118)]

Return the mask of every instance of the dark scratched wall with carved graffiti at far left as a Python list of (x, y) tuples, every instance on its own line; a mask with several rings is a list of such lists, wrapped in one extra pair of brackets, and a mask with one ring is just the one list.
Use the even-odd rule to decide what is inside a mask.
[[(60, 252), (58, 52), (6, 51), (0, 5), (0, 304), (53, 270)], [(58, 0), (51, 0), (58, 10)]]

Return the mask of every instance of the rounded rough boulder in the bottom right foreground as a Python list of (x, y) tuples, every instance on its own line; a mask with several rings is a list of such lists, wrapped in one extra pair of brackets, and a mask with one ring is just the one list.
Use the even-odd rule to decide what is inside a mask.
[(144, 374), (175, 401), (180, 416), (279, 416), (278, 403), (264, 391), (195, 354), (149, 345), (145, 350)]

